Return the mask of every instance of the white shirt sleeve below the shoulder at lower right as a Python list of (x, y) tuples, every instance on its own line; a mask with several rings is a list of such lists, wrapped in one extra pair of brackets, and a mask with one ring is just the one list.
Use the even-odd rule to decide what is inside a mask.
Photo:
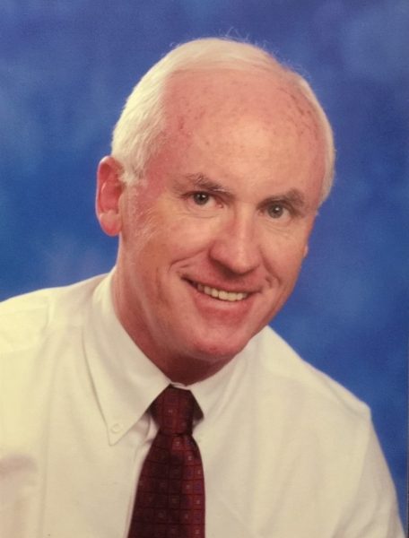
[(355, 494), (336, 538), (405, 538), (395, 486), (372, 425), (361, 469)]

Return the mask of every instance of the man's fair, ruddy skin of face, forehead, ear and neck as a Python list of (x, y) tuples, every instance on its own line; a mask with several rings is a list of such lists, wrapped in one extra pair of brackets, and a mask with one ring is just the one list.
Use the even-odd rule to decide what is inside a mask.
[(281, 74), (178, 74), (166, 139), (138, 184), (100, 162), (97, 214), (119, 235), (114, 304), (172, 381), (212, 376), (282, 308), (325, 173), (317, 118)]

